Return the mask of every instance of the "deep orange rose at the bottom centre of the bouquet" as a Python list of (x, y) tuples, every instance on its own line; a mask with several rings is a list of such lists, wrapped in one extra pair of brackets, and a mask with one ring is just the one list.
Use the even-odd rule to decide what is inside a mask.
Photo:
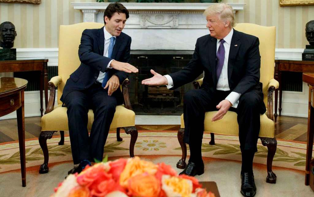
[(138, 197), (159, 197), (160, 181), (148, 173), (133, 176), (128, 181), (129, 195)]

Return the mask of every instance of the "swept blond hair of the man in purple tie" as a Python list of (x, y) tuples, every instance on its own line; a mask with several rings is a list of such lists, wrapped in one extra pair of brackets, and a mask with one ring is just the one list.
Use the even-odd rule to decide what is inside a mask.
[(211, 16), (219, 14), (219, 20), (226, 22), (230, 21), (231, 28), (235, 25), (235, 16), (233, 14), (233, 9), (230, 5), (225, 3), (215, 3), (205, 9), (203, 15)]

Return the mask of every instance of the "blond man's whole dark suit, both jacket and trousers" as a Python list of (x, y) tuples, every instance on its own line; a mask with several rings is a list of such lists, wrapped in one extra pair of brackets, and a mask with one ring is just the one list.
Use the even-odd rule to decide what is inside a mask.
[[(257, 151), (260, 130), (260, 114), (265, 113), (260, 78), (259, 40), (257, 37), (233, 30), (228, 57), (228, 82), (230, 91), (217, 90), (216, 48), (217, 39), (206, 35), (198, 38), (192, 60), (187, 67), (170, 74), (173, 89), (192, 82), (204, 72), (200, 89), (188, 91), (184, 96), (184, 142), (189, 144), (191, 157), (201, 159), (201, 145), (206, 111), (214, 111), (216, 105), (230, 92), (241, 93), (237, 113), (241, 150)], [(193, 155), (192, 155), (193, 154)]]

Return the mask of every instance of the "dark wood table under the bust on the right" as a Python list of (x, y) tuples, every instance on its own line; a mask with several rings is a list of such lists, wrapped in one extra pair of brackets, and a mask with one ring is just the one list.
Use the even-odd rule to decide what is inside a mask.
[[(282, 81), (281, 72), (314, 72), (314, 61), (301, 61), (301, 60), (275, 60), (275, 74), (274, 78), (279, 82), (279, 115), (281, 115), (281, 101), (282, 101)], [(275, 90), (275, 114), (274, 119), (277, 121), (277, 102), (278, 102), (278, 89)]]

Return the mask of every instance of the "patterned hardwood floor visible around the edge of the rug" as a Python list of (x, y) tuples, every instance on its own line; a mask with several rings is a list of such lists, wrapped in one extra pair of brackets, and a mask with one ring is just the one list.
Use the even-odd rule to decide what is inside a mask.
[[(179, 125), (137, 125), (139, 131), (143, 130), (167, 130), (177, 131)], [(40, 116), (25, 118), (25, 139), (38, 138), (41, 132)], [(114, 132), (114, 130), (112, 130)], [(64, 132), (68, 135), (68, 131)], [(56, 132), (54, 136), (58, 136)], [(275, 123), (275, 137), (277, 139), (295, 140), (306, 142), (307, 118), (292, 116), (278, 116)], [(0, 120), (0, 143), (17, 141), (18, 130), (16, 119)]]

